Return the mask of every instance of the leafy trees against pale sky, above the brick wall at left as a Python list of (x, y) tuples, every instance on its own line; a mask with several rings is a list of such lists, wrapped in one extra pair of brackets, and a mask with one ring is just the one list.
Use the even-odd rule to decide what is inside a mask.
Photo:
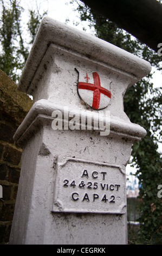
[[(1, 56), (0, 69), (9, 75), (12, 80), (17, 81), (20, 72), (28, 58), (29, 48), (33, 44), (38, 26), (44, 12), (40, 15), (37, 10), (29, 10), (28, 35), (24, 37), (21, 17), (23, 8), (18, 0), (0, 0), (1, 4)], [(25, 38), (31, 38), (29, 42)]]

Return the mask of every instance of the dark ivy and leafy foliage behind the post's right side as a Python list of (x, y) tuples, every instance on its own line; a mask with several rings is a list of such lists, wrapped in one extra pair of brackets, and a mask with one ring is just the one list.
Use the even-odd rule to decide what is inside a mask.
[[(77, 2), (81, 21), (88, 21), (90, 28), (95, 29), (96, 36), (147, 60), (152, 66), (162, 70), (162, 59), (157, 53), (82, 2), (72, 2)], [(132, 166), (137, 166), (136, 175), (140, 184), (139, 238), (142, 243), (162, 242), (162, 205), (161, 199), (157, 196), (157, 187), (162, 184), (162, 159), (158, 152), (161, 137), (161, 89), (153, 88), (151, 78), (152, 74), (149, 74), (134, 84), (124, 97), (124, 108), (129, 119), (147, 131), (146, 137), (134, 143), (132, 147)]]

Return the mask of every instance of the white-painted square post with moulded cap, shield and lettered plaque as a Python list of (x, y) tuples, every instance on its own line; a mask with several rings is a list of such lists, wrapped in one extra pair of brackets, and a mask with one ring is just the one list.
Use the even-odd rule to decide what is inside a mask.
[(22, 167), (11, 244), (127, 243), (126, 164), (146, 135), (124, 112), (150, 63), (45, 17), (18, 89), (34, 104), (14, 139)]

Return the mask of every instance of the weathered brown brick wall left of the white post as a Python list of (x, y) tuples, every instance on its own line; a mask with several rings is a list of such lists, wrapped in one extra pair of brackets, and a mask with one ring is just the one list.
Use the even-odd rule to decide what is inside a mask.
[(8, 243), (14, 215), (22, 149), (13, 136), (32, 106), (28, 95), (18, 92), (16, 84), (0, 70), (0, 244)]

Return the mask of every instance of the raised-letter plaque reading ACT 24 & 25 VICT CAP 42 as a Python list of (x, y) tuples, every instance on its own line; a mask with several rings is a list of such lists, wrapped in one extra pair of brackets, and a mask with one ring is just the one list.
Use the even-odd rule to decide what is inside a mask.
[(114, 164), (59, 156), (53, 211), (125, 214), (125, 171)]

